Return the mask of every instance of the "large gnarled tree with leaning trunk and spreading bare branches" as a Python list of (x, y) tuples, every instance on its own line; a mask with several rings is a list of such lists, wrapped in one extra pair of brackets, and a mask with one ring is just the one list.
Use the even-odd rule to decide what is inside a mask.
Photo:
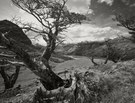
[(37, 76), (46, 90), (54, 90), (66, 83), (57, 76), (49, 65), (49, 59), (59, 42), (59, 34), (70, 25), (81, 23), (86, 17), (81, 14), (69, 12), (66, 7), (67, 0), (12, 0), (13, 4), (34, 16), (41, 24), (41, 29), (32, 25), (25, 25), (23, 29), (31, 30), (43, 37), (47, 46), (41, 55), (40, 61), (31, 56), (18, 45), (17, 41), (7, 38), (7, 33), (1, 33), (0, 43), (14, 52), (19, 59)]

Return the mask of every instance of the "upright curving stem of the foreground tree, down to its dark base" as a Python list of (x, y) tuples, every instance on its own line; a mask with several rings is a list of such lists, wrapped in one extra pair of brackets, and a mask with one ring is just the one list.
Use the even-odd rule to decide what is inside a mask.
[[(52, 32), (50, 31), (50, 34), (48, 34), (48, 42), (47, 42), (47, 46), (46, 49), (44, 50), (43, 54), (42, 54), (42, 62), (43, 64), (48, 68), (48, 74), (50, 74), (51, 77), (51, 81), (47, 81), (47, 83), (44, 81), (44, 79), (40, 79), (41, 83), (44, 85), (44, 87), (47, 87), (49, 90), (51, 90), (51, 88), (54, 87), (60, 87), (64, 85), (63, 80), (58, 77), (51, 69), (50, 65), (49, 65), (49, 59), (52, 55), (52, 53), (54, 52), (55, 46), (56, 46), (56, 39), (52, 36)], [(54, 87), (51, 87), (51, 85), (54, 85)], [(55, 88), (56, 89), (56, 88)]]

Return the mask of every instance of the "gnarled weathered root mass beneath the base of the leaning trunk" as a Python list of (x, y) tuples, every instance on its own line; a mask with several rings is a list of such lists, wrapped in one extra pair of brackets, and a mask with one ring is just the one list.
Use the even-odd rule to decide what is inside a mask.
[(38, 88), (34, 94), (33, 103), (85, 103), (88, 92), (83, 77), (76, 73), (68, 88), (62, 86), (50, 91)]

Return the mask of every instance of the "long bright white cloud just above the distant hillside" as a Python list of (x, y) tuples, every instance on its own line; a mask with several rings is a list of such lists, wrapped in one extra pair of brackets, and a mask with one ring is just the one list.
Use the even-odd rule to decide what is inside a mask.
[(82, 24), (69, 28), (66, 35), (67, 42), (77, 43), (81, 41), (102, 41), (105, 38), (115, 38), (118, 35), (128, 35), (128, 33), (111, 27)]

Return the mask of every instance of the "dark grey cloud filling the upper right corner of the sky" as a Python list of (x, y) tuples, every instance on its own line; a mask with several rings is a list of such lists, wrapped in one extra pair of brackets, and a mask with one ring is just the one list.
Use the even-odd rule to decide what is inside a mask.
[(126, 17), (135, 15), (135, 0), (91, 0), (90, 9), (93, 10), (90, 17), (94, 23), (113, 26), (114, 15), (122, 14)]

